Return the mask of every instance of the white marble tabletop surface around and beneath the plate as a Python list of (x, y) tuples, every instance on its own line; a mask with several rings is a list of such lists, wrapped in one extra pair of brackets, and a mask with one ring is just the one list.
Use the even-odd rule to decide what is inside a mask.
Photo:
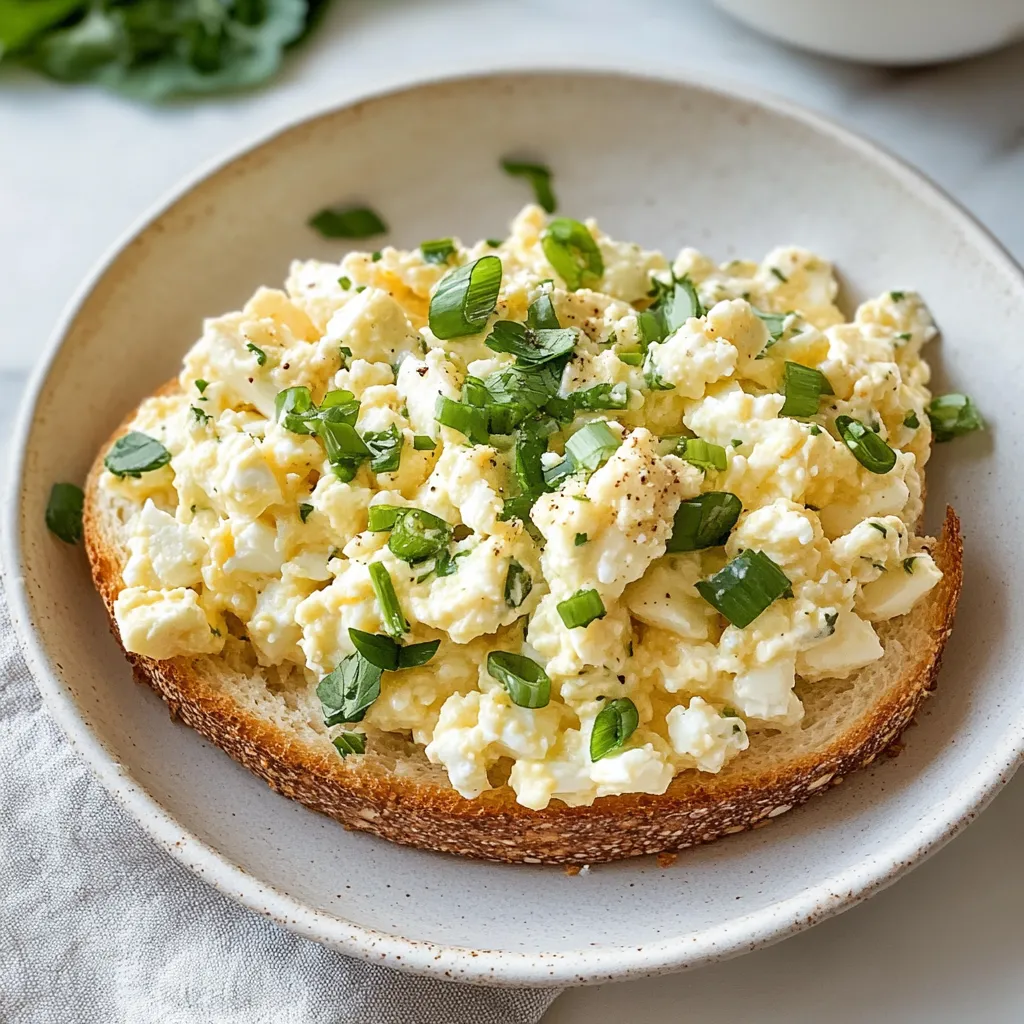
[[(155, 111), (0, 76), (0, 426), (90, 266), (224, 148), (308, 109), (433, 74), (651, 61), (842, 120), (921, 167), (1024, 259), (1024, 46), (887, 72), (783, 49), (699, 0), (337, 0), (282, 79), (248, 96)], [(837, 202), (857, 215), (854, 197)], [(566, 993), (546, 1024), (1020, 1021), (1022, 822), (1019, 779), (929, 863), (842, 918), (698, 972)]]

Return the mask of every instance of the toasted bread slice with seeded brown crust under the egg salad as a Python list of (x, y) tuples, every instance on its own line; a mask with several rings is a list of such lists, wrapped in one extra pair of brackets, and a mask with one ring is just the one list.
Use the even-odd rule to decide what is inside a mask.
[[(102, 456), (86, 487), (85, 543), (118, 638), (113, 607), (128, 555), (125, 523), (134, 509), (99, 488), (101, 472)], [(602, 797), (589, 807), (556, 800), (531, 811), (507, 785), (465, 800), (421, 748), (391, 734), (370, 732), (367, 753), (343, 760), (303, 674), (259, 667), (241, 640), (229, 640), (216, 656), (127, 656), (136, 679), (148, 683), (174, 717), (279, 793), (348, 828), (490, 860), (596, 863), (681, 850), (754, 827), (824, 793), (890, 746), (934, 688), (952, 628), (963, 554), (952, 509), (941, 538), (928, 546), (944, 573), (941, 583), (909, 614), (879, 626), (880, 660), (848, 679), (798, 684), (805, 708), (799, 726), (755, 733), (750, 749), (717, 775), (685, 771), (659, 797)]]

